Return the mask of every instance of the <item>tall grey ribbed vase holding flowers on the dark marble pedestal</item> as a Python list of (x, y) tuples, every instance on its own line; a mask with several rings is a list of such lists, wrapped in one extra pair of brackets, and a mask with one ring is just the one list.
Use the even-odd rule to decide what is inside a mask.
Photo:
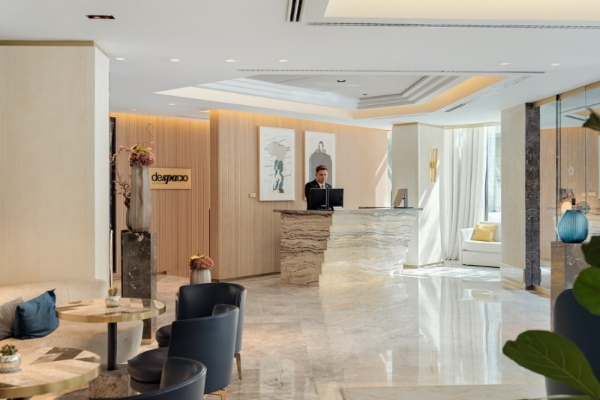
[(131, 167), (131, 198), (128, 224), (132, 232), (148, 232), (152, 217), (152, 193), (150, 172), (147, 166), (133, 164)]

